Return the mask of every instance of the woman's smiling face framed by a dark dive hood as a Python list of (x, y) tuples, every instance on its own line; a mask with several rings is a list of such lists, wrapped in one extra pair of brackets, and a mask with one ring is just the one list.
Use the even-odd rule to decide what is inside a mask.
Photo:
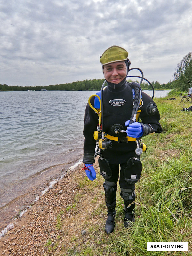
[(124, 61), (109, 63), (104, 65), (103, 74), (106, 81), (118, 84), (127, 76), (127, 66)]

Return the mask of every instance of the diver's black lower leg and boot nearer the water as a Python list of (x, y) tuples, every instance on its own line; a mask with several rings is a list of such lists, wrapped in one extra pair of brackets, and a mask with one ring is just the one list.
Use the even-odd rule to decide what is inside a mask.
[(107, 220), (105, 223), (105, 232), (110, 234), (113, 232), (115, 227), (117, 185), (114, 182), (105, 181), (103, 183), (103, 187), (105, 190), (105, 203), (108, 212)]

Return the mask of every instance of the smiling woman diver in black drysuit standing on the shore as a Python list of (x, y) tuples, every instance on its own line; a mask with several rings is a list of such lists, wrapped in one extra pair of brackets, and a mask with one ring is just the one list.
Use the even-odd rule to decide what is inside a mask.
[[(159, 124), (160, 114), (155, 108), (149, 111), (151, 106), (156, 106), (147, 94), (142, 92), (142, 106), (140, 106), (141, 122), (130, 122), (134, 102), (134, 87), (139, 84), (126, 82), (130, 61), (128, 52), (118, 46), (111, 46), (100, 57), (103, 65), (103, 74), (107, 86), (102, 91), (102, 125), (105, 134), (108, 135), (108, 146), (100, 149), (98, 163), (100, 173), (104, 177), (105, 202), (108, 217), (105, 224), (106, 233), (112, 233), (115, 226), (116, 215), (116, 190), (117, 181), (121, 188), (121, 197), (124, 199), (124, 227), (130, 226), (135, 221), (135, 183), (139, 180), (142, 164), (140, 155), (135, 153), (139, 139), (145, 135), (162, 132)], [(101, 92), (100, 92), (101, 93)], [(95, 108), (98, 105), (96, 97), (90, 100)], [(84, 156), (83, 163), (87, 177), (90, 180), (96, 178), (93, 167), (96, 140), (93, 133), (98, 127), (98, 114), (86, 106), (84, 119)], [(121, 131), (121, 132), (120, 132)], [(105, 144), (106, 145), (106, 144)], [(120, 165), (120, 177), (119, 177)]]

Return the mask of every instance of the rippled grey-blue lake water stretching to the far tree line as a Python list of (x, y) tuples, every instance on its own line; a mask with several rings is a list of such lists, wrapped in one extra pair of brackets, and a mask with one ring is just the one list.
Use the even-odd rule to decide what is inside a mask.
[(84, 110), (94, 93), (0, 92), (0, 209), (35, 183), (61, 175), (52, 174), (53, 167), (66, 171), (82, 159)]

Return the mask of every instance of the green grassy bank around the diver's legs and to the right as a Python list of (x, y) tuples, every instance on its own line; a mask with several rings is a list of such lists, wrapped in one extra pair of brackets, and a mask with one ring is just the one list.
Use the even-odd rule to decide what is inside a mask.
[[(46, 244), (49, 255), (192, 255), (192, 112), (181, 111), (183, 105), (179, 97), (177, 100), (155, 99), (155, 102), (161, 114), (163, 132), (143, 138), (148, 149), (141, 155), (143, 171), (141, 182), (136, 184), (136, 222), (132, 228), (123, 226), (123, 200), (118, 187), (116, 227), (112, 234), (105, 234), (107, 212), (103, 178), (97, 170), (94, 182), (76, 177), (75, 200), (64, 206), (57, 218), (57, 227), (64, 235), (56, 244), (62, 245), (62, 249), (58, 254), (57, 246), (53, 249)], [(184, 107), (189, 106), (190, 103)], [(73, 236), (66, 233), (61, 218), (64, 212), (70, 211), (76, 213), (71, 220)], [(82, 214), (84, 221), (80, 223)], [(76, 235), (78, 229), (84, 232)], [(187, 241), (188, 252), (148, 252), (148, 241)]]

